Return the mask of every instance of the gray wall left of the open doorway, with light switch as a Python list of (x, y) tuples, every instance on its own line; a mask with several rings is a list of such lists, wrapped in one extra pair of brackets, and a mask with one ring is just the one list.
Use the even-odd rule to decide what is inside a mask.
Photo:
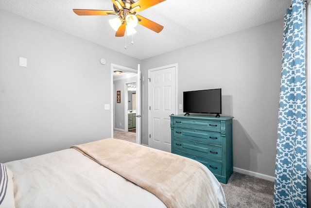
[(0, 162), (111, 137), (111, 63), (140, 62), (0, 9)]

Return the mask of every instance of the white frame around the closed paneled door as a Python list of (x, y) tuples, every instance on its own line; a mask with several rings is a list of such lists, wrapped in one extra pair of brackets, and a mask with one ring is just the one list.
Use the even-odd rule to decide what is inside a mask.
[[(153, 69), (148, 69), (148, 108), (150, 107), (150, 72), (152, 71), (157, 71), (157, 70), (162, 70), (162, 69), (167, 69), (167, 68), (172, 68), (175, 67), (175, 112), (174, 114), (178, 114), (178, 64), (170, 64), (170, 65), (166, 65), (166, 66), (162, 66), (162, 67), (157, 67), (157, 68), (153, 68)], [(149, 108), (150, 109), (150, 108)], [(150, 146), (150, 110), (148, 109), (148, 146)], [(172, 144), (171, 144), (172, 145)]]

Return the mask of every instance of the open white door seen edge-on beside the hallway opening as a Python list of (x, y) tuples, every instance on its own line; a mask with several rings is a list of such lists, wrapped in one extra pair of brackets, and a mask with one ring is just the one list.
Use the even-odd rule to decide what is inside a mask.
[(141, 108), (140, 108), (140, 65), (137, 69), (136, 81), (136, 143), (140, 144), (140, 125), (141, 125)]

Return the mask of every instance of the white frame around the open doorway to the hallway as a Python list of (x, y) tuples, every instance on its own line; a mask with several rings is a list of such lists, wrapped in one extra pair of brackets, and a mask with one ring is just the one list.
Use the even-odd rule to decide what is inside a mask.
[[(111, 138), (113, 138), (113, 129), (114, 129), (114, 85), (113, 85), (113, 72), (115, 70), (121, 70), (121, 71), (129, 71), (132, 73), (138, 73), (137, 69), (132, 69), (129, 67), (124, 67), (121, 65), (113, 64), (111, 63), (111, 68), (110, 68), (110, 82), (111, 82), (111, 87), (110, 87), (110, 110), (111, 110)], [(125, 104), (124, 104), (125, 105)], [(125, 112), (124, 112), (125, 113)]]

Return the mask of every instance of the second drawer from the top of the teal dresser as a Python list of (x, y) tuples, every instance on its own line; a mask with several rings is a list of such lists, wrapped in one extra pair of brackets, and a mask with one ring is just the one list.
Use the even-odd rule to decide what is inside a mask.
[(215, 144), (222, 144), (222, 139), (220, 133), (203, 131), (198, 129), (188, 129), (188, 128), (174, 128), (173, 136), (178, 138), (191, 138), (191, 139), (203, 139)]

